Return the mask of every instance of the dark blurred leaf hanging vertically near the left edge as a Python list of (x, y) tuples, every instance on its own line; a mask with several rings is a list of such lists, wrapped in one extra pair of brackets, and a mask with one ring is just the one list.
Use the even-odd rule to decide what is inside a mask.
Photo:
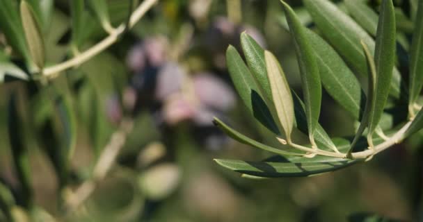
[(20, 194), (24, 198), (24, 206), (30, 207), (33, 203), (31, 186), (31, 171), (29, 166), (28, 148), (24, 143), (24, 126), (17, 106), (17, 94), (10, 95), (8, 104), (8, 134), (13, 164), (20, 184)]

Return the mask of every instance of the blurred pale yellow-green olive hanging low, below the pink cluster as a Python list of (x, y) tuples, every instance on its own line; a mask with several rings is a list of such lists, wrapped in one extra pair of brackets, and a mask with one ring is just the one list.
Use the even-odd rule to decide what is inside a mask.
[(162, 200), (175, 191), (181, 180), (181, 171), (176, 164), (160, 164), (141, 174), (138, 185), (151, 200)]

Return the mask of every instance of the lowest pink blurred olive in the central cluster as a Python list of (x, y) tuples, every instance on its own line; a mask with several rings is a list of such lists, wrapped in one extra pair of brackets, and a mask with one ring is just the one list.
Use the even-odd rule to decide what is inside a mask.
[(190, 101), (180, 94), (175, 94), (164, 103), (161, 110), (163, 121), (173, 126), (181, 121), (190, 120), (195, 115), (195, 108)]

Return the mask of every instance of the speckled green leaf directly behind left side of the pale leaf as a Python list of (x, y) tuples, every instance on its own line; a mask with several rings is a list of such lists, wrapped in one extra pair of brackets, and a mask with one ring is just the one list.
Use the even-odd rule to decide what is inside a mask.
[(269, 83), (269, 78), (266, 74), (266, 62), (264, 61), (264, 49), (255, 42), (253, 37), (247, 33), (241, 34), (241, 46), (246, 56), (248, 67), (250, 68), (251, 74), (257, 80), (257, 83), (262, 89), (264, 96), (269, 101), (272, 100), (272, 93)]

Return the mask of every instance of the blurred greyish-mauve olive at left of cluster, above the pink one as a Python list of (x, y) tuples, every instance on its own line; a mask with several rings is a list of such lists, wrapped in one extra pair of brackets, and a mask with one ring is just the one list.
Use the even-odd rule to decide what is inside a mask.
[(186, 71), (177, 63), (166, 62), (157, 73), (154, 97), (159, 101), (164, 101), (171, 94), (179, 92), (182, 89), (182, 84), (186, 76)]

